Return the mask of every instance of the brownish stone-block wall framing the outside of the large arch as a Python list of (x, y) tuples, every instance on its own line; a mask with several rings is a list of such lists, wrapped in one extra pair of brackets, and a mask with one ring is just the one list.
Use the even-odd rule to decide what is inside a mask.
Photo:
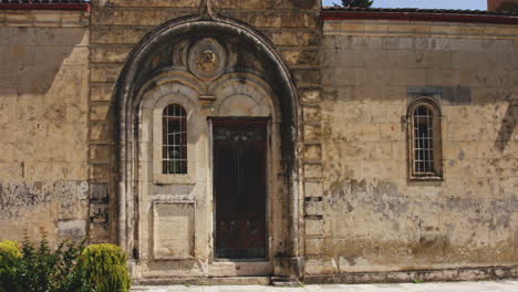
[[(91, 226), (94, 241), (116, 240), (116, 180), (113, 154), (112, 94), (114, 83), (124, 62), (135, 46), (156, 27), (180, 17), (198, 12), (201, 0), (182, 1), (95, 1), (92, 7), (91, 23), (91, 137), (90, 153), (92, 188), (105, 190), (108, 199), (92, 201), (92, 209), (110, 211)], [(304, 121), (319, 124), (320, 70), (319, 42), (321, 36), (319, 11), (320, 1), (213, 1), (215, 12), (244, 21), (263, 33), (284, 58), (302, 96)], [(305, 148), (311, 169), (320, 169), (319, 137), (309, 137)], [(319, 178), (320, 174), (313, 171)], [(297, 201), (294, 204), (301, 204)], [(300, 206), (301, 207), (301, 206)]]

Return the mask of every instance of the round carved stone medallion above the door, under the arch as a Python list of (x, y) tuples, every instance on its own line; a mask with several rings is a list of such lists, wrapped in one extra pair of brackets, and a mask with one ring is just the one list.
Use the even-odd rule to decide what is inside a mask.
[(227, 54), (214, 39), (197, 41), (189, 52), (189, 69), (200, 79), (216, 79), (225, 71)]

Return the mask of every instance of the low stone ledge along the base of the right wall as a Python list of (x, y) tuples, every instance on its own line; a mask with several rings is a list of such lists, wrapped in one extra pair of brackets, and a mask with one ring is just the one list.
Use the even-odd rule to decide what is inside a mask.
[(438, 281), (481, 281), (518, 278), (518, 265), (476, 267), (443, 270), (414, 270), (397, 272), (356, 272), (344, 274), (307, 275), (305, 284), (364, 284), (364, 283), (404, 283)]

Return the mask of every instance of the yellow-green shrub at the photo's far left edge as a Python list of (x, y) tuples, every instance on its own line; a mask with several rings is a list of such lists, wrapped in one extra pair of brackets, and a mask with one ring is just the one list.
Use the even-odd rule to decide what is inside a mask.
[(20, 290), (17, 274), (21, 257), (17, 241), (0, 242), (0, 292)]

